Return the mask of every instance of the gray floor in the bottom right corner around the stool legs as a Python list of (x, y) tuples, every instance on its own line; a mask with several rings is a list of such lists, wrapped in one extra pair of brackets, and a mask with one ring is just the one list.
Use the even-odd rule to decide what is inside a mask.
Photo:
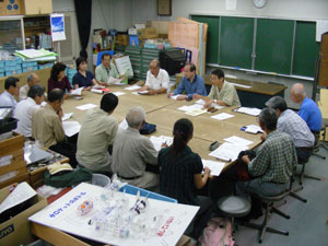
[[(307, 199), (307, 203), (288, 197), (286, 204), (279, 209), (291, 215), (290, 220), (272, 214), (269, 225), (289, 231), (289, 236), (266, 233), (263, 242), (258, 244), (258, 231), (239, 226), (236, 233), (238, 246), (327, 246), (328, 245), (328, 151), (320, 148), (319, 154), (327, 159), (311, 156), (305, 173), (321, 177), (323, 180), (304, 178), (304, 189), (297, 194)], [(298, 179), (295, 186), (298, 185)], [(261, 223), (262, 216), (255, 223)]]

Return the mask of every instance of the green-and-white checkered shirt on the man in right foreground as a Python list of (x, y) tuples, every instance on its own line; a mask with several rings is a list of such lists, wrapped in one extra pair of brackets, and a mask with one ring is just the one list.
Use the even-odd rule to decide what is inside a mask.
[(292, 138), (279, 131), (272, 131), (259, 148), (256, 157), (248, 164), (251, 176), (261, 181), (288, 183), (297, 156)]

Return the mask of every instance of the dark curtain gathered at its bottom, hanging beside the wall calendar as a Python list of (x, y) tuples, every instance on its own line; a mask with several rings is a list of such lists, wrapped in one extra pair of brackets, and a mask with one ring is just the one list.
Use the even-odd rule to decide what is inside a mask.
[(80, 51), (81, 57), (87, 58), (86, 47), (90, 37), (91, 28), (91, 7), (92, 0), (74, 0), (79, 36), (82, 49)]

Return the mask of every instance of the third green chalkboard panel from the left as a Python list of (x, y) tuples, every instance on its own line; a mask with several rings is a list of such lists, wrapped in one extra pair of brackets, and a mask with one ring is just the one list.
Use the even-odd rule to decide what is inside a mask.
[(255, 70), (291, 73), (294, 21), (257, 20)]

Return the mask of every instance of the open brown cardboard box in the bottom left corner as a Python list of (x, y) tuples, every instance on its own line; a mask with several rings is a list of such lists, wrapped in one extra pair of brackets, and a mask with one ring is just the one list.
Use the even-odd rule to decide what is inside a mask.
[[(0, 190), (0, 202), (10, 194), (10, 186)], [(47, 200), (37, 195), (33, 198), (33, 206), (14, 218), (0, 224), (0, 245), (26, 245), (34, 241), (31, 233), (31, 215), (47, 206)]]

